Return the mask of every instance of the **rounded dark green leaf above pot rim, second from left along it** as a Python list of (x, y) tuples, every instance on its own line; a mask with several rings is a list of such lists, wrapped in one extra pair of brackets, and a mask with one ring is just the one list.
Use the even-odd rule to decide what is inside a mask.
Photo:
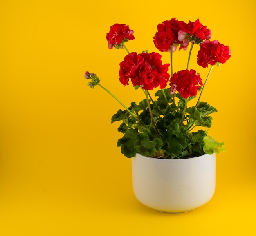
[(162, 141), (159, 138), (155, 138), (152, 141), (145, 134), (139, 133), (136, 137), (135, 146), (137, 152), (144, 156), (152, 156), (155, 152), (162, 148)]

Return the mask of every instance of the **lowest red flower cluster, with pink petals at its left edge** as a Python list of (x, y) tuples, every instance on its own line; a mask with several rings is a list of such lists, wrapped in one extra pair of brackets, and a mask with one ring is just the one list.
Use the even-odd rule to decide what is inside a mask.
[(177, 73), (174, 73), (173, 76), (170, 79), (170, 90), (171, 94), (175, 94), (175, 91), (177, 90), (180, 95), (184, 98), (187, 98), (189, 96), (196, 96), (198, 89), (200, 86), (203, 85), (202, 79), (198, 73), (196, 73), (195, 70), (182, 70), (178, 71)]

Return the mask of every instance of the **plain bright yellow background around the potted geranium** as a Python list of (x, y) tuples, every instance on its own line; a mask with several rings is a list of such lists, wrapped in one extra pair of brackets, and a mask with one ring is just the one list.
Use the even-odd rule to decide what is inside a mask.
[[(250, 0), (2, 0), (0, 235), (256, 235), (255, 10)], [(131, 160), (116, 147), (119, 124), (110, 124), (120, 106), (83, 78), (94, 72), (127, 106), (140, 101), (141, 91), (118, 81), (126, 52), (108, 49), (106, 32), (128, 24), (130, 51), (157, 51), (157, 24), (172, 17), (199, 18), (231, 49), (202, 96), (218, 109), (210, 134), (227, 149), (217, 155), (216, 192), (182, 214), (135, 199)], [(187, 53), (174, 53), (174, 71)], [(204, 80), (208, 70), (198, 72)]]

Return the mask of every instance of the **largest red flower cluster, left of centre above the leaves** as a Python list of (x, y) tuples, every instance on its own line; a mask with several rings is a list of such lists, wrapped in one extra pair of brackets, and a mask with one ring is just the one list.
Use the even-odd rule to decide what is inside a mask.
[(159, 53), (129, 53), (120, 63), (120, 82), (128, 85), (129, 78), (133, 86), (139, 85), (145, 90), (165, 88), (170, 75), (170, 64), (162, 64)]

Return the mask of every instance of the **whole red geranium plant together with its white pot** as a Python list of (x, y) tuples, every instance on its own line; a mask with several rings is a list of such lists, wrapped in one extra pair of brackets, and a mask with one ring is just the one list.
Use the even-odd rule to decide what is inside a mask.
[[(215, 190), (215, 154), (225, 151), (208, 135), (211, 114), (216, 108), (201, 101), (213, 66), (230, 58), (228, 46), (211, 41), (211, 30), (199, 19), (194, 22), (166, 20), (157, 26), (153, 37), (156, 48), (170, 53), (170, 64), (163, 64), (157, 52), (129, 52), (125, 43), (135, 37), (129, 26), (114, 24), (106, 38), (110, 49), (125, 49), (128, 53), (120, 63), (119, 81), (132, 83), (145, 94), (145, 99), (130, 106), (100, 84), (96, 74), (86, 72), (90, 88), (100, 86), (123, 107), (112, 116), (120, 121), (117, 141), (121, 153), (132, 158), (132, 182), (137, 199), (162, 212), (185, 212), (207, 203)], [(173, 73), (173, 53), (177, 47), (189, 46), (187, 66)], [(209, 68), (204, 80), (189, 68), (191, 51), (198, 48), (197, 63)], [(150, 92), (159, 88), (153, 97)], [(199, 94), (199, 96), (197, 96)]]

